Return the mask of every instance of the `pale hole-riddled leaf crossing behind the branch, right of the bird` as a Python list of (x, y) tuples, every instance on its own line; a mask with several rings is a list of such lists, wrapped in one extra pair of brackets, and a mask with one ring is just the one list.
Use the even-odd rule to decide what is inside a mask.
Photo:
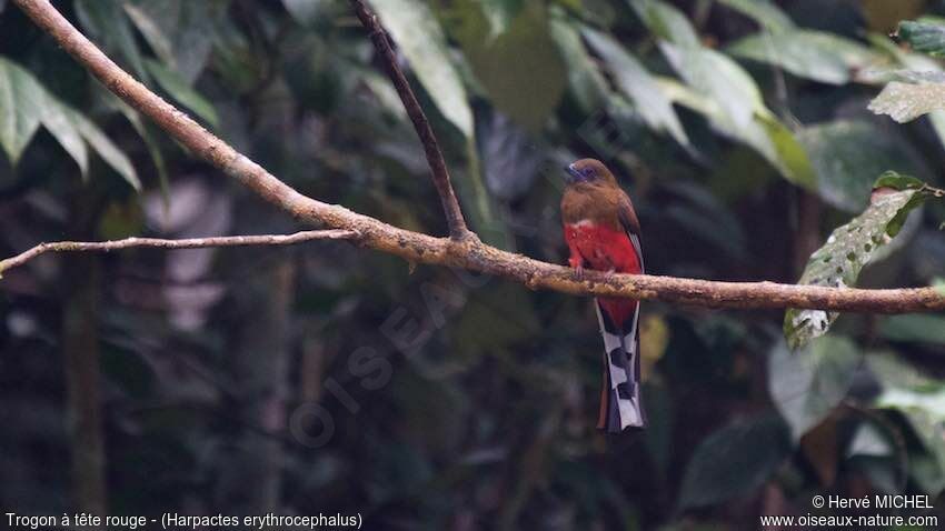
[[(800, 284), (847, 288), (856, 285), (863, 268), (876, 251), (898, 233), (908, 213), (931, 193), (904, 190), (874, 193), (869, 207), (849, 223), (834, 230), (827, 242), (810, 256)], [(798, 349), (827, 332), (836, 312), (790, 309), (784, 318), (784, 333), (792, 349)]]

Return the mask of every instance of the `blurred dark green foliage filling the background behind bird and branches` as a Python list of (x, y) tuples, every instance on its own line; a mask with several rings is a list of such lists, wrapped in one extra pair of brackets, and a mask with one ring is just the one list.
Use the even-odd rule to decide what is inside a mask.
[[(56, 6), (301, 192), (446, 232), (347, 2)], [(945, 114), (898, 124), (868, 110), (891, 80), (937, 87), (939, 62), (888, 36), (901, 20), (936, 22), (942, 1), (371, 6), (472, 228), (505, 249), (564, 263), (560, 168), (581, 157), (623, 177), (649, 271), (719, 280), (796, 282), (884, 171), (944, 184)], [(6, 0), (0, 36), (0, 254), (66, 238), (295, 229)], [(891, 98), (874, 109), (915, 118)], [(943, 219), (941, 204), (914, 212), (859, 284), (945, 275)], [(6, 272), (0, 293), (8, 511), (745, 529), (757, 514), (814, 511), (816, 493), (943, 504), (941, 314), (842, 315), (792, 353), (784, 312), (647, 303), (651, 425), (605, 437), (601, 345), (583, 298), (331, 242), (47, 256)]]

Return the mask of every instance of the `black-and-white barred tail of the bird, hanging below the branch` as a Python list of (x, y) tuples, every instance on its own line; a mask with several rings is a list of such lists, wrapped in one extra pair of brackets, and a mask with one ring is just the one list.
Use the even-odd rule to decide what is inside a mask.
[[(597, 428), (608, 433), (646, 428), (646, 412), (640, 400), (639, 304), (634, 311), (633, 322), (624, 327), (615, 325), (598, 302), (595, 302), (595, 308), (605, 353)], [(625, 329), (629, 332), (624, 333)]]

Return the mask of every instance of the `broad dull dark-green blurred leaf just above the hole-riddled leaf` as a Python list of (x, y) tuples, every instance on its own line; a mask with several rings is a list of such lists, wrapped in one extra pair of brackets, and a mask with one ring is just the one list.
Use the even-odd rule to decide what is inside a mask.
[(797, 138), (817, 170), (817, 194), (847, 212), (866, 207), (871, 190), (879, 187), (874, 186), (873, 176), (889, 168), (924, 171), (915, 162), (915, 153), (894, 131), (865, 120), (808, 126), (798, 131)]

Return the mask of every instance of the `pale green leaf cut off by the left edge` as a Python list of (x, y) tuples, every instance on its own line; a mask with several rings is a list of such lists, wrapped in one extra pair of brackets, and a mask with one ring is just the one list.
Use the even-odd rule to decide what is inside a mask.
[(0, 58), (0, 147), (17, 163), (42, 121), (46, 90), (20, 66)]

